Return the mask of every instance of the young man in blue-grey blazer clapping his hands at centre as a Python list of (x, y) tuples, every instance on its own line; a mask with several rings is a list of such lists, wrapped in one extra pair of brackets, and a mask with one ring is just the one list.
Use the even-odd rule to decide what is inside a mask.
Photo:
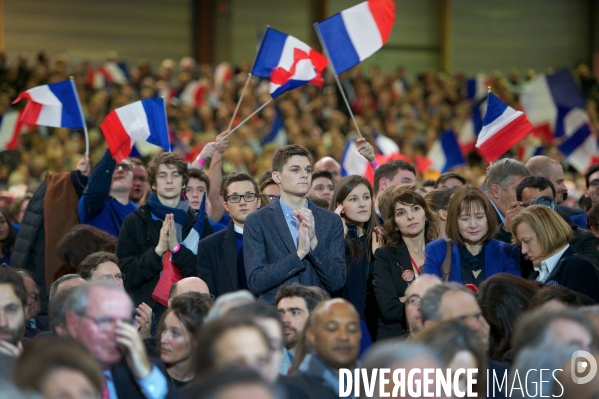
[(248, 287), (275, 303), (280, 285), (315, 285), (330, 292), (345, 284), (341, 218), (306, 199), (312, 166), (304, 147), (288, 145), (272, 161), (281, 198), (246, 219), (243, 248)]

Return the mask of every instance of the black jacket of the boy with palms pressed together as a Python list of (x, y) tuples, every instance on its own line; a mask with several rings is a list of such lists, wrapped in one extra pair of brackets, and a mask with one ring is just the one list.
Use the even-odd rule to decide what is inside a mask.
[[(191, 231), (197, 212), (189, 209), (187, 225), (183, 228), (183, 239)], [(135, 306), (145, 302), (150, 307), (156, 306), (152, 292), (160, 279), (162, 257), (156, 254), (156, 245), (160, 239), (161, 220), (152, 220), (148, 205), (143, 205), (125, 218), (116, 254), (120, 269), (125, 274), (125, 289), (131, 294)], [(201, 237), (212, 234), (212, 226), (208, 218), (204, 220)], [(179, 268), (183, 277), (197, 276), (197, 256), (188, 248), (181, 246), (172, 254), (172, 262)]]

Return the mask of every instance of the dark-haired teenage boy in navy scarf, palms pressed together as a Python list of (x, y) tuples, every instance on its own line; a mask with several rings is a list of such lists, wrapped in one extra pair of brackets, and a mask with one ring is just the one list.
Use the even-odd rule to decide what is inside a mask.
[[(178, 154), (158, 154), (148, 165), (148, 183), (152, 193), (145, 205), (123, 222), (117, 247), (121, 271), (127, 276), (125, 289), (135, 306), (142, 302), (158, 317), (166, 307), (152, 298), (160, 279), (163, 257), (171, 261), (184, 277), (195, 276), (197, 255), (180, 245), (196, 222), (197, 212), (182, 200), (188, 180), (187, 163)], [(212, 234), (208, 218), (200, 237)]]

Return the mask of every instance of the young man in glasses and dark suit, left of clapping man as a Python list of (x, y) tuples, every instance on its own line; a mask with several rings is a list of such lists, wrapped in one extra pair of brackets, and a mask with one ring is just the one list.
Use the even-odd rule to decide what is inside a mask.
[(230, 175), (222, 190), (231, 221), (226, 230), (200, 241), (198, 274), (216, 297), (248, 289), (243, 257), (243, 229), (248, 215), (260, 208), (258, 183), (246, 173)]

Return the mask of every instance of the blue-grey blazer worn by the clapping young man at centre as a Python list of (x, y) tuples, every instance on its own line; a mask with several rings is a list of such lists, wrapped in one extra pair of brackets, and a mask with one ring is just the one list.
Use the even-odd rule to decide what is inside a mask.
[(259, 299), (275, 303), (280, 285), (315, 285), (329, 292), (345, 284), (345, 241), (341, 218), (308, 200), (318, 245), (303, 260), (279, 201), (248, 215), (243, 228), (243, 257), (248, 287)]

